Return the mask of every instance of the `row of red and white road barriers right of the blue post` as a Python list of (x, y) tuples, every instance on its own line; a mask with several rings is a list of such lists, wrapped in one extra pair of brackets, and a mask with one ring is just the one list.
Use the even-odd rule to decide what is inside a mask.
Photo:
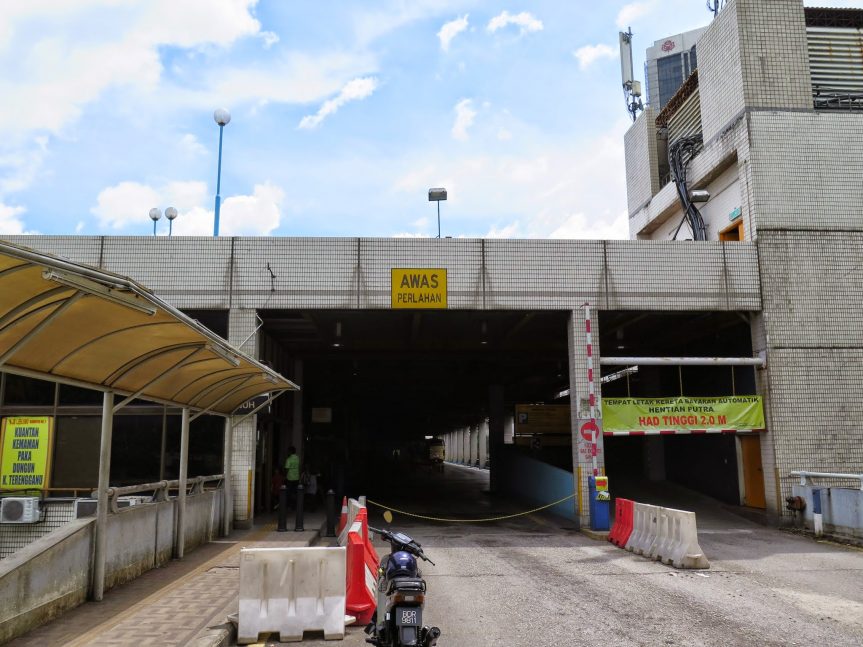
[(675, 568), (710, 568), (698, 544), (695, 513), (617, 499), (608, 540)]

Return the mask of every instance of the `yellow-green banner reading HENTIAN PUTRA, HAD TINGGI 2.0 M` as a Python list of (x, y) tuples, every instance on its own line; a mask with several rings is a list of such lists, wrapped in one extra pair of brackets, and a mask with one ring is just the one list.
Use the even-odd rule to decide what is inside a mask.
[(604, 432), (764, 429), (759, 395), (721, 398), (603, 398)]

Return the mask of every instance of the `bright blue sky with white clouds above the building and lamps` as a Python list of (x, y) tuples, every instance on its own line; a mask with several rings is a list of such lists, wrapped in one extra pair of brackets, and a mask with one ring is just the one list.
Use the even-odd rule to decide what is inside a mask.
[[(860, 2), (816, 2), (861, 6)], [(636, 70), (703, 0), (4, 0), (0, 234), (625, 238)], [(158, 223), (167, 234), (167, 222)]]

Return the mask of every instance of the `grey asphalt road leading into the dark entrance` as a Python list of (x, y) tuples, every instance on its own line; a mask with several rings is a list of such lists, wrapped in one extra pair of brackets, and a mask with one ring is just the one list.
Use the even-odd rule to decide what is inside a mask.
[[(480, 470), (418, 478), (423, 496), (390, 504), (457, 518), (515, 507), (481, 493)], [(437, 564), (424, 568), (425, 620), (441, 628), (441, 646), (863, 645), (863, 551), (700, 507), (707, 571), (649, 561), (538, 514), (489, 524), (397, 514), (392, 527)], [(350, 628), (342, 644), (364, 638)]]

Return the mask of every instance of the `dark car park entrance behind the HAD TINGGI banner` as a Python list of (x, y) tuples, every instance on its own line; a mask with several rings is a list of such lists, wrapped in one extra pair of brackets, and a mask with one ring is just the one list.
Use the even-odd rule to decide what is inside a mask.
[[(737, 312), (600, 313), (605, 357), (751, 357), (746, 314)], [(603, 375), (622, 366), (603, 366)], [(603, 398), (721, 397), (756, 395), (752, 366), (641, 366), (602, 386)], [(760, 453), (748, 452), (760, 434), (676, 433), (606, 436), (606, 473), (614, 494), (670, 504), (689, 492), (732, 505), (763, 507)], [(750, 442), (751, 441), (751, 442)], [(757, 465), (750, 464), (757, 462)], [(744, 479), (754, 473), (756, 478)], [(747, 481), (744, 483), (744, 481)]]

